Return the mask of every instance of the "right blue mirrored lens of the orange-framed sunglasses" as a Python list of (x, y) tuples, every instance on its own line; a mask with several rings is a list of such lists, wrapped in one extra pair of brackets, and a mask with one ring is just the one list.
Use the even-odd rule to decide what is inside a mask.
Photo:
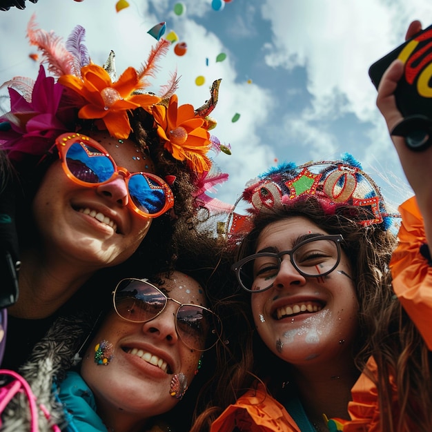
[(139, 173), (132, 175), (128, 183), (129, 195), (135, 206), (144, 213), (159, 213), (166, 204), (164, 187), (150, 177)]

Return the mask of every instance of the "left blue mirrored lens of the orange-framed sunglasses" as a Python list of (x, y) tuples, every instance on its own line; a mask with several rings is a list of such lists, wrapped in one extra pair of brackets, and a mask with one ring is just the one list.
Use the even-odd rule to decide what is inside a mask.
[(66, 164), (70, 173), (86, 183), (103, 183), (114, 173), (114, 166), (109, 157), (100, 150), (76, 142), (66, 153)]

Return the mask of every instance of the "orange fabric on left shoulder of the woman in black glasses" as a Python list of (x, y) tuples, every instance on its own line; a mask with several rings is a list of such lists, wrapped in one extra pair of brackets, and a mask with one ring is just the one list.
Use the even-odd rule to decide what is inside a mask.
[(248, 432), (301, 432), (284, 406), (258, 384), (239, 397), (213, 422), (210, 432), (232, 432), (237, 426)]

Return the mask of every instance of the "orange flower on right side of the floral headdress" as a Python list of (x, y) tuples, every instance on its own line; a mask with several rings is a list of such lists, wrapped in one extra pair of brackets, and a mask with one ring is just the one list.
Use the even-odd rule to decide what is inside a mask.
[(177, 108), (177, 104), (177, 95), (173, 95), (168, 108), (163, 105), (153, 106), (157, 133), (166, 141), (164, 147), (175, 159), (186, 160), (188, 166), (197, 173), (208, 171), (211, 162), (206, 153), (211, 143), (205, 121), (195, 115), (192, 105), (186, 104)]

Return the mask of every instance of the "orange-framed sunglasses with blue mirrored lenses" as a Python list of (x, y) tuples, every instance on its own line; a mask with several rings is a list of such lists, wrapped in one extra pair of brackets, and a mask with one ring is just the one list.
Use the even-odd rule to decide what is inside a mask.
[(65, 133), (55, 140), (61, 166), (80, 186), (97, 188), (121, 175), (126, 182), (128, 207), (141, 217), (158, 217), (174, 206), (174, 195), (166, 181), (151, 173), (130, 173), (117, 166), (104, 146), (79, 133)]

